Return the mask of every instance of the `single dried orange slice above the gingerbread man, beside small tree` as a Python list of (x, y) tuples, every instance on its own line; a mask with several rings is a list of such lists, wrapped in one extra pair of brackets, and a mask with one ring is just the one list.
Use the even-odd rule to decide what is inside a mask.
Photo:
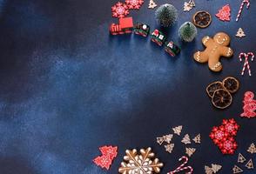
[(192, 22), (199, 28), (206, 28), (212, 23), (212, 17), (207, 11), (198, 11), (192, 17)]

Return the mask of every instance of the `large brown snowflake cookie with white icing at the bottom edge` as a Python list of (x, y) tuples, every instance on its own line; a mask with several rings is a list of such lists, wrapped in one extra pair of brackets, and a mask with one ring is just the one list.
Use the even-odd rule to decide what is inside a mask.
[(122, 174), (127, 173), (146, 173), (154, 174), (159, 173), (160, 168), (164, 164), (160, 163), (158, 158), (152, 159), (155, 154), (152, 152), (152, 148), (141, 149), (138, 155), (137, 150), (126, 150), (126, 156), (124, 157), (125, 162), (121, 163), (118, 171)]

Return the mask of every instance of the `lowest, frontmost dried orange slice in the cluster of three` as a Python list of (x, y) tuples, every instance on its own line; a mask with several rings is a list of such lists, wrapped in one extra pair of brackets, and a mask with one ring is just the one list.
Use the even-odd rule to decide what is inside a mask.
[(225, 109), (232, 104), (232, 96), (228, 90), (215, 90), (212, 96), (212, 104), (219, 109)]

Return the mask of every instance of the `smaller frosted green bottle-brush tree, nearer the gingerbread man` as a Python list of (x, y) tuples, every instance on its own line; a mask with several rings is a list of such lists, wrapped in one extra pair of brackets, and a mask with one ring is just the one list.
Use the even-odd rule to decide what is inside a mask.
[(191, 22), (185, 22), (179, 28), (179, 37), (185, 42), (192, 42), (197, 34), (198, 30)]

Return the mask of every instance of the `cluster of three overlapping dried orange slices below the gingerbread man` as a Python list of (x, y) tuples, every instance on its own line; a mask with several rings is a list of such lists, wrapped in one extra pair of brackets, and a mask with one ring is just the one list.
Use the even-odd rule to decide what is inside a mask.
[(206, 92), (212, 98), (212, 104), (219, 109), (225, 109), (232, 104), (232, 94), (239, 90), (239, 81), (234, 77), (226, 77), (222, 82), (209, 84)]

